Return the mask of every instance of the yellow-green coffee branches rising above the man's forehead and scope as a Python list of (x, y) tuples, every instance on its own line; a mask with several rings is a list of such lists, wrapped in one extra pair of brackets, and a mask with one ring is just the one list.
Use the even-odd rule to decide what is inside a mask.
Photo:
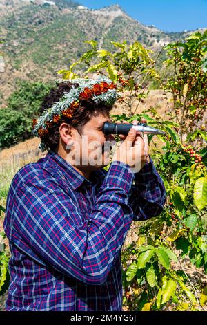
[[(150, 78), (153, 76), (158, 79), (154, 68), (155, 61), (149, 55), (152, 51), (146, 50), (138, 41), (131, 45), (126, 41), (122, 44), (112, 41), (112, 45), (118, 49), (114, 53), (104, 49), (99, 50), (97, 41), (86, 41), (86, 43), (90, 44), (92, 49), (84, 53), (68, 70), (60, 70), (58, 73), (63, 75), (64, 79), (80, 77), (74, 69), (78, 65), (84, 68), (83, 64), (85, 64), (87, 68), (83, 73), (84, 77), (95, 72), (108, 75), (112, 82), (117, 84), (117, 89), (121, 93), (119, 105), (128, 106), (130, 116), (135, 114), (139, 103), (148, 94), (146, 88)], [(97, 64), (92, 64), (94, 61)]]

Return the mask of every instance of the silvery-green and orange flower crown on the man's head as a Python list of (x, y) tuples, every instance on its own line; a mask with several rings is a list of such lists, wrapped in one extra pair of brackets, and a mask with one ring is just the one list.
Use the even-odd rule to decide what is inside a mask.
[[(57, 82), (60, 82), (57, 80)], [(95, 104), (106, 104), (112, 106), (117, 100), (118, 93), (116, 86), (107, 77), (99, 77), (97, 80), (92, 79), (72, 79), (61, 80), (61, 82), (71, 82), (79, 84), (77, 88), (72, 86), (68, 93), (64, 93), (59, 102), (56, 102), (50, 109), (43, 111), (43, 114), (32, 123), (32, 133), (34, 136), (43, 138), (49, 133), (48, 129), (54, 124), (59, 124), (61, 118), (72, 118), (73, 113), (79, 107), (81, 100), (92, 99)], [(41, 151), (45, 151), (48, 147), (43, 143), (39, 145)]]

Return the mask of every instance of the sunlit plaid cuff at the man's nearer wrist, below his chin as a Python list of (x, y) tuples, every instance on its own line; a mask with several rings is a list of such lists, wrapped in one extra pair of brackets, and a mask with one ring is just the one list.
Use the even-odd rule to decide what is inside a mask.
[(110, 185), (119, 187), (126, 192), (130, 192), (135, 174), (130, 171), (130, 167), (121, 161), (113, 161), (110, 164), (108, 173), (103, 180), (103, 186)]

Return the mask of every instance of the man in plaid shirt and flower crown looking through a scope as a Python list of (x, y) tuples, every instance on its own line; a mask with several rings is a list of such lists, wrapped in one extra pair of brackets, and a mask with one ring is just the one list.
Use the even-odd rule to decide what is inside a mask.
[(6, 310), (122, 309), (121, 246), (132, 220), (162, 211), (165, 189), (134, 129), (103, 169), (116, 99), (104, 77), (62, 83), (45, 98), (34, 134), (48, 154), (17, 172), (6, 204)]

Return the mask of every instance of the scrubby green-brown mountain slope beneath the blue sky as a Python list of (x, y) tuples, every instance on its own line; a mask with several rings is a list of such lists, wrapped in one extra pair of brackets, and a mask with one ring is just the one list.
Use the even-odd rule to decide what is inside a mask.
[(117, 5), (90, 10), (70, 0), (1, 0), (0, 104), (6, 105), (19, 78), (54, 80), (88, 49), (85, 40), (95, 39), (100, 48), (138, 40), (157, 50), (186, 35), (144, 26)]

